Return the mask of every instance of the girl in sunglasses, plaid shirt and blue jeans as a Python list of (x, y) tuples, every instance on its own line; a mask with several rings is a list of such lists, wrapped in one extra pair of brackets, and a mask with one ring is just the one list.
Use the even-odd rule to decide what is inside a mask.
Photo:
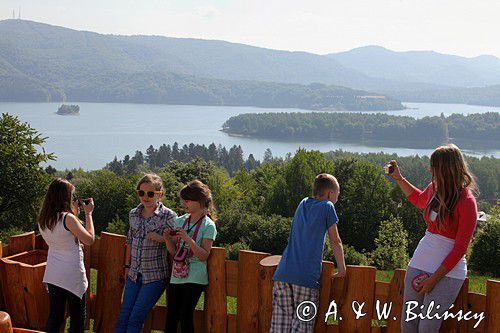
[(146, 317), (165, 289), (168, 276), (163, 231), (171, 229), (177, 215), (165, 207), (163, 183), (155, 174), (146, 174), (137, 184), (141, 203), (129, 214), (125, 255), (126, 279), (123, 303), (115, 332), (140, 332)]

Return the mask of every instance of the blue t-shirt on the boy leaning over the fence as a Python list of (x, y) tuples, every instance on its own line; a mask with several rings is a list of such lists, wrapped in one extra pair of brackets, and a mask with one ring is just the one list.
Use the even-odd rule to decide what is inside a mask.
[(303, 199), (295, 211), (288, 245), (273, 280), (319, 288), (325, 234), (337, 222), (333, 203)]

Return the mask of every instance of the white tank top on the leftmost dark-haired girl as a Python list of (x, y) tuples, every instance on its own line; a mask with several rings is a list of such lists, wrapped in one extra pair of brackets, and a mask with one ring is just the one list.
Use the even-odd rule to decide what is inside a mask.
[(43, 282), (66, 289), (82, 298), (88, 287), (83, 250), (71, 231), (64, 228), (63, 219), (66, 215), (67, 213), (61, 214), (54, 230), (42, 230), (38, 226), (49, 246)]

